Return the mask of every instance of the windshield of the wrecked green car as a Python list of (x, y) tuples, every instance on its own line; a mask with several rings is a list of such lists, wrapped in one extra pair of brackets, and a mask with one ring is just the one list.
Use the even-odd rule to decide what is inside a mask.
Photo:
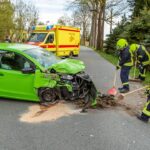
[(61, 59), (55, 56), (52, 52), (49, 52), (42, 48), (29, 49), (25, 50), (24, 52), (30, 57), (34, 58), (45, 68), (48, 68), (51, 65), (61, 61)]

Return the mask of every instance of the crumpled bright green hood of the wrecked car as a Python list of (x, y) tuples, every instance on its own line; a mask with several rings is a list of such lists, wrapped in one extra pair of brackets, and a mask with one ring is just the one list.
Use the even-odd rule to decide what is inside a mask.
[(68, 58), (53, 64), (49, 69), (64, 74), (77, 74), (85, 69), (85, 65), (80, 60)]

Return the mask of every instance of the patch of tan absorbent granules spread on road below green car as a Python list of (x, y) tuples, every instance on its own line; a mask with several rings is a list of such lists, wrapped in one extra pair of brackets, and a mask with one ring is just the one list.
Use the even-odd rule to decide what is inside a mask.
[(75, 105), (65, 102), (59, 102), (49, 107), (33, 105), (29, 107), (28, 112), (21, 115), (20, 121), (27, 123), (55, 121), (61, 117), (79, 114), (80, 111)]

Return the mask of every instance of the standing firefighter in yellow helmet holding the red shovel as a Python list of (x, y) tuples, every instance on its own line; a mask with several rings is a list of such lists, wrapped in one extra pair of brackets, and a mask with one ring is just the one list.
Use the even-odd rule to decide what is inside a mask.
[(129, 73), (133, 66), (133, 54), (129, 50), (128, 42), (125, 39), (120, 39), (117, 42), (117, 50), (119, 50), (119, 62), (116, 69), (121, 69), (120, 78), (123, 87), (118, 88), (120, 93), (127, 93), (129, 88)]

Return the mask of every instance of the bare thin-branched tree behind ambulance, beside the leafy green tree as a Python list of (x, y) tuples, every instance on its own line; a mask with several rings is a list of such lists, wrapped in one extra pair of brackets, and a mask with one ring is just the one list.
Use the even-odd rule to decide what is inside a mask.
[(30, 2), (27, 3), (23, 0), (17, 0), (15, 5), (15, 29), (17, 41), (22, 40), (24, 32), (29, 33), (31, 27), (37, 24), (38, 21), (38, 10)]

